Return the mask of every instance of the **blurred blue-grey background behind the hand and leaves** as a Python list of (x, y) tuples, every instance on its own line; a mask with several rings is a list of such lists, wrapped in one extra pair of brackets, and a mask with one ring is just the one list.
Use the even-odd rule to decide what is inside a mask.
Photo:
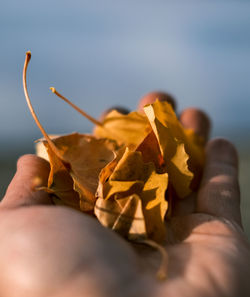
[(0, 42), (1, 195), (41, 137), (22, 89), (31, 50), (28, 88), (48, 133), (92, 128), (51, 86), (94, 117), (117, 104), (135, 109), (152, 90), (171, 93), (178, 111), (205, 110), (212, 136), (239, 150), (250, 238), (250, 1), (2, 1)]

